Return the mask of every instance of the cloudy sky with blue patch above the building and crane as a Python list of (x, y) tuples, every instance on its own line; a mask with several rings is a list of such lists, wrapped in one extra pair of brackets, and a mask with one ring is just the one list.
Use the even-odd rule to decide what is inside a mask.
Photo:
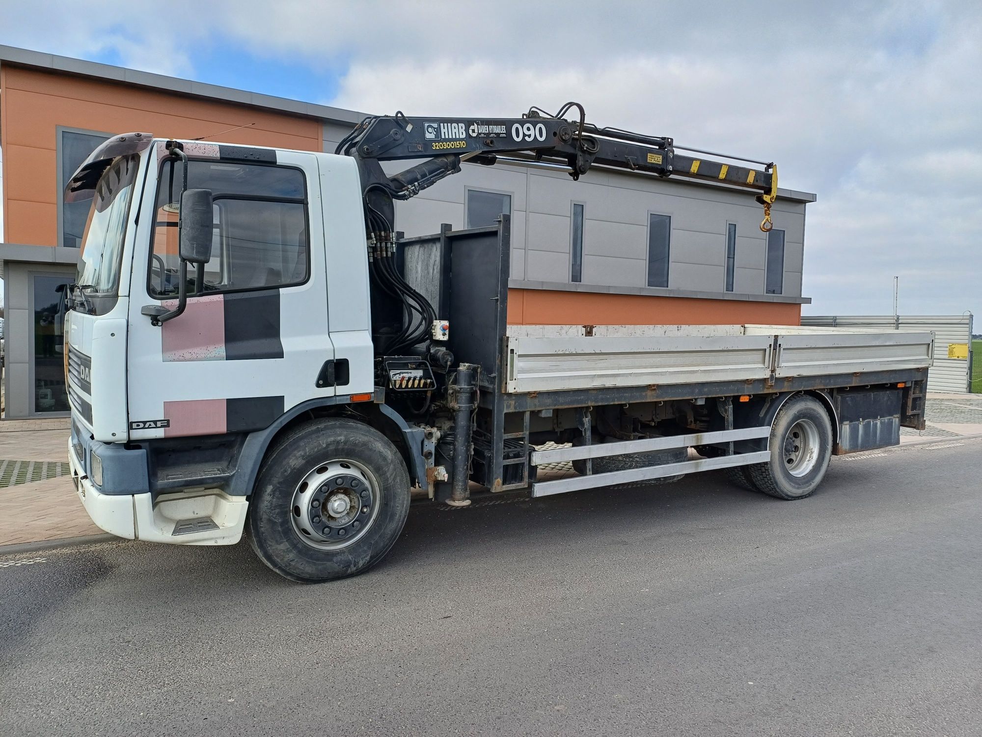
[(982, 315), (979, 2), (0, 0), (0, 43), (370, 113), (575, 100), (815, 193), (806, 314), (899, 276), (901, 314)]

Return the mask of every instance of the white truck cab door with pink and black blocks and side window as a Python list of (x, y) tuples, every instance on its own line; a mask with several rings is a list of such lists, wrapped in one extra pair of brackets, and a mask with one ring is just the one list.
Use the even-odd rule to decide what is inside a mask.
[[(177, 306), (180, 161), (158, 144), (130, 300), (133, 439), (247, 432), (301, 402), (333, 396), (324, 223), (313, 154), (186, 143), (188, 188), (213, 198), (211, 259), (189, 264), (185, 312), (159, 326), (146, 305)], [(321, 246), (318, 246), (321, 245)], [(121, 387), (122, 388), (122, 387)]]

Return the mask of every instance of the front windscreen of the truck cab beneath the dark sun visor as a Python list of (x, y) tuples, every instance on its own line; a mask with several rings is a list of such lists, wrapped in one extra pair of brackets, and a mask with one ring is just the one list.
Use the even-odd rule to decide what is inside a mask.
[(116, 303), (138, 163), (137, 154), (119, 156), (95, 186), (82, 235), (78, 283), (93, 298), (91, 302), (96, 313), (108, 312)]

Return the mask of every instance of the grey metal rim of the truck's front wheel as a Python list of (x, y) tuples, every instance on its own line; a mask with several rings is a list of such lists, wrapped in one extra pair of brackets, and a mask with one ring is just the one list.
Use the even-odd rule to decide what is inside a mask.
[(297, 536), (311, 547), (348, 547), (378, 516), (379, 485), (364, 466), (348, 459), (322, 463), (297, 484), (290, 519)]

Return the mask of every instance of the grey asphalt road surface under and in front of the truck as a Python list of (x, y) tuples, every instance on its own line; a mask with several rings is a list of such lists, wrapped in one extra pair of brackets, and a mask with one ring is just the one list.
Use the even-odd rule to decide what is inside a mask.
[(2, 557), (0, 734), (982, 734), (982, 440), (795, 502), (494, 501), (320, 586), (246, 544)]

